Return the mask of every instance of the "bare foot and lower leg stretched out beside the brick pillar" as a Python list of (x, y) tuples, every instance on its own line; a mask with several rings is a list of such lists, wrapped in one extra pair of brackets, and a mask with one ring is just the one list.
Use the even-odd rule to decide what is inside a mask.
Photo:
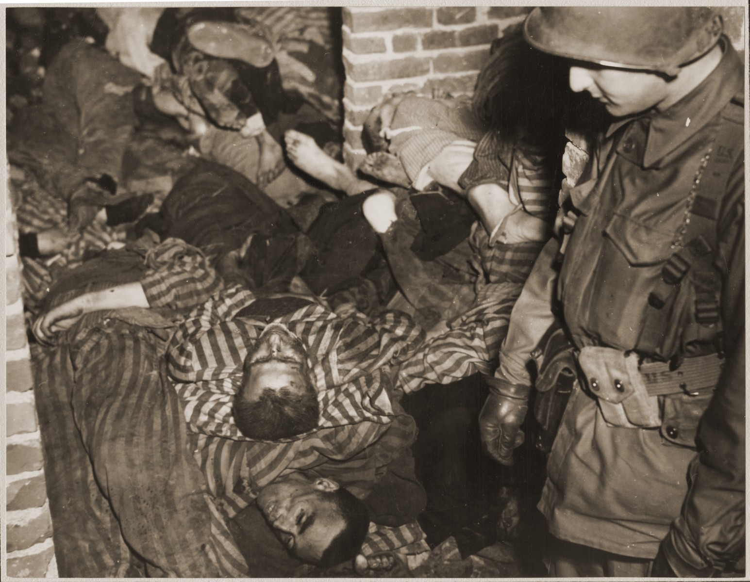
[(373, 187), (370, 182), (357, 178), (348, 166), (329, 157), (311, 136), (288, 130), (284, 134), (284, 141), (287, 144), (287, 154), (295, 166), (334, 190), (343, 190), (347, 195), (353, 196)]

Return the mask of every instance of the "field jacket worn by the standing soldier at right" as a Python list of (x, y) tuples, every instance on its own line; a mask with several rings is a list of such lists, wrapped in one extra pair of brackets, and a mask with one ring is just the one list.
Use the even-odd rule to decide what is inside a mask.
[[(609, 128), (590, 174), (571, 191), (577, 219), (556, 286), (550, 245), (515, 307), (514, 314), (524, 310), (518, 315), (526, 329), (513, 330), (511, 324), (498, 375), (528, 382), (519, 367), (527, 354), (520, 352), (533, 348), (553, 321), (555, 293), (579, 351), (615, 348), (637, 354), (641, 363), (684, 366), (717, 349), (732, 351), (744, 334), (744, 151), (741, 140), (727, 151), (726, 140), (716, 139), (722, 123), (742, 127), (736, 96), (742, 94), (743, 75), (736, 52), (725, 37), (721, 42), (723, 58), (690, 94), (664, 112)], [(706, 178), (699, 169), (709, 152), (714, 166), (706, 172), (729, 164), (721, 173), (724, 191), (713, 195), (719, 204), (712, 260), (683, 269), (676, 284), (664, 286), (664, 265), (690, 242), (695, 181)], [(652, 297), (655, 291), (660, 299)], [(696, 317), (706, 297), (715, 303), (715, 317)], [(550, 533), (643, 559), (653, 559), (668, 534), (678, 575), (710, 574), (742, 556), (744, 381), (724, 383), (713, 395), (715, 380), (699, 395), (661, 395), (656, 409), (661, 425), (640, 425), (649, 428), (607, 422), (585, 384), (571, 395), (547, 464), (539, 509)], [(739, 403), (735, 416), (703, 414), (706, 406), (718, 406), (709, 404), (712, 398), (725, 402), (727, 396)]]

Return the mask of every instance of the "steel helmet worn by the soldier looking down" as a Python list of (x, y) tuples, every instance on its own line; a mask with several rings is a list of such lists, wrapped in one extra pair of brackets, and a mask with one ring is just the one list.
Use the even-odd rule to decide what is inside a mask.
[(676, 75), (721, 37), (721, 16), (708, 7), (537, 7), (523, 35), (544, 52), (606, 67)]

